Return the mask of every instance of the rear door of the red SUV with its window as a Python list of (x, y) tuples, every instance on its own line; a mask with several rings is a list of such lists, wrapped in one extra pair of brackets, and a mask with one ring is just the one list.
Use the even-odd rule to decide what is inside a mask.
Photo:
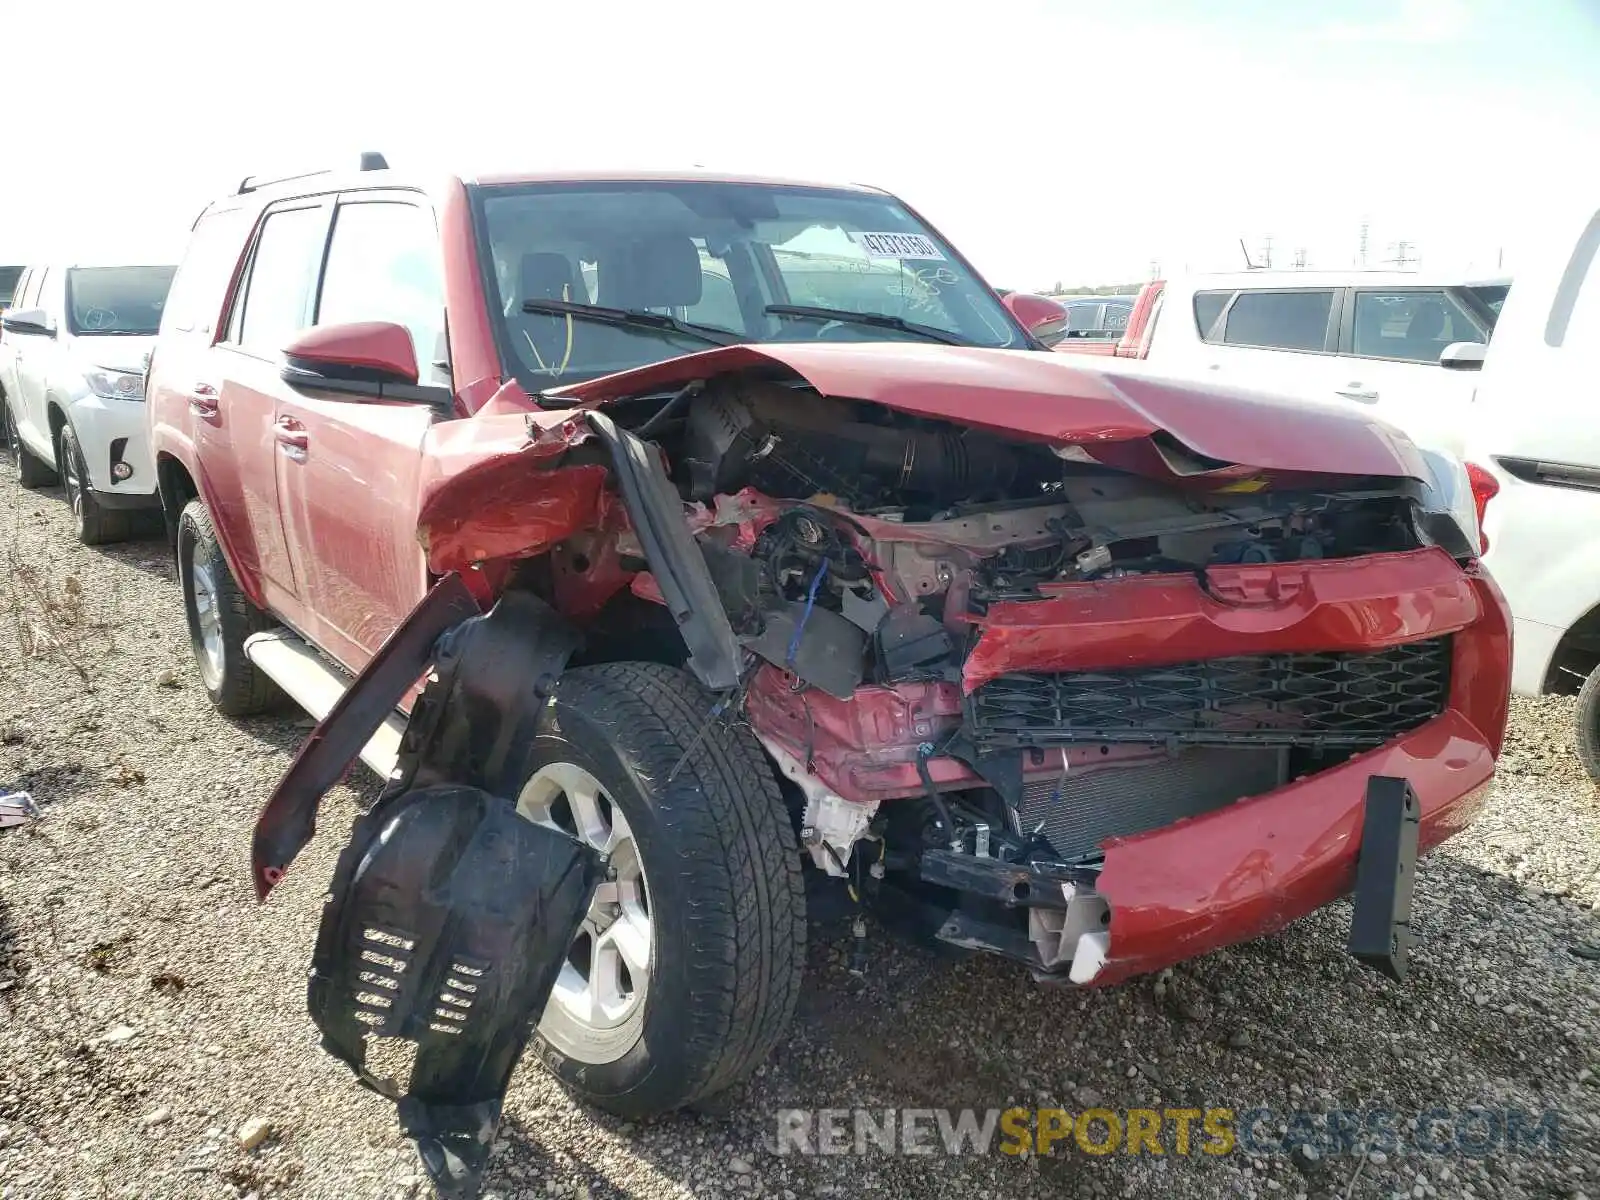
[(278, 616), (304, 629), (304, 595), (278, 515), (277, 418), (283, 347), (310, 325), (317, 267), (333, 202), (293, 200), (266, 211), (221, 342), (181, 381), (194, 413), (195, 458), (211, 515), (237, 566)]

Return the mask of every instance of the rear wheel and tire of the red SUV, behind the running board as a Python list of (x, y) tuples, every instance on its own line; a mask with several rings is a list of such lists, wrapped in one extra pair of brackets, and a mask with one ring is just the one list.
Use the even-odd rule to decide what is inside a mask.
[[(218, 712), (248, 717), (282, 704), (278, 685), (245, 656), (245, 638), (270, 629), (274, 621), (234, 582), (202, 499), (189, 501), (178, 518), (178, 582), (200, 682)], [(202, 621), (203, 611), (216, 613), (214, 624)], [(214, 635), (213, 651), (206, 650), (208, 635)]]

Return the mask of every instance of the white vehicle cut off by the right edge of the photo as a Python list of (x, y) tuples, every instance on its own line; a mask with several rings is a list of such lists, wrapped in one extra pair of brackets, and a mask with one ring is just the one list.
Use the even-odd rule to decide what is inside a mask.
[(1600, 781), (1600, 202), (1544, 229), (1475, 378), (1466, 453), (1499, 493), (1485, 563), (1515, 618), (1512, 688), (1579, 693)]

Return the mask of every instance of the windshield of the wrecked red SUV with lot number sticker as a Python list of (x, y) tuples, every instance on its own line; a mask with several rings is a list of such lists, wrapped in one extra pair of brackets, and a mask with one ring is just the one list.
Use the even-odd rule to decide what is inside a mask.
[[(483, 187), (475, 203), (502, 354), (534, 389), (717, 341), (1030, 344), (949, 245), (886, 195), (587, 182)], [(541, 301), (661, 314), (680, 328), (525, 310)], [(733, 336), (698, 336), (690, 326)]]

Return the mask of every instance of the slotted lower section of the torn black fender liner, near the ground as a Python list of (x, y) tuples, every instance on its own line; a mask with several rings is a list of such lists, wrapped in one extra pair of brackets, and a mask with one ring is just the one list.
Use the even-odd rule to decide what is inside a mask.
[[(386, 795), (341, 853), (307, 1006), (323, 1048), (397, 1101), (440, 1195), (477, 1194), (603, 872), (590, 846), (456, 784)], [(416, 1042), (405, 1093), (368, 1072), (368, 1037)]]

